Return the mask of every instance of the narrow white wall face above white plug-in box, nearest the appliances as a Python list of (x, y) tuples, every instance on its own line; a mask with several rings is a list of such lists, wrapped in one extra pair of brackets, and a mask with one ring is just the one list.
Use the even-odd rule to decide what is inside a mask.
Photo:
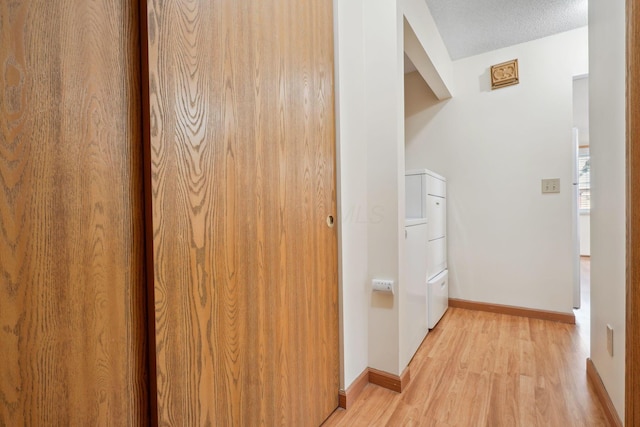
[[(368, 224), (369, 279), (392, 279), (401, 286), (403, 21), (395, 0), (367, 0), (364, 16), (367, 194), (369, 205), (380, 213)], [(370, 293), (369, 366), (396, 375), (400, 374), (399, 306), (398, 297)]]

